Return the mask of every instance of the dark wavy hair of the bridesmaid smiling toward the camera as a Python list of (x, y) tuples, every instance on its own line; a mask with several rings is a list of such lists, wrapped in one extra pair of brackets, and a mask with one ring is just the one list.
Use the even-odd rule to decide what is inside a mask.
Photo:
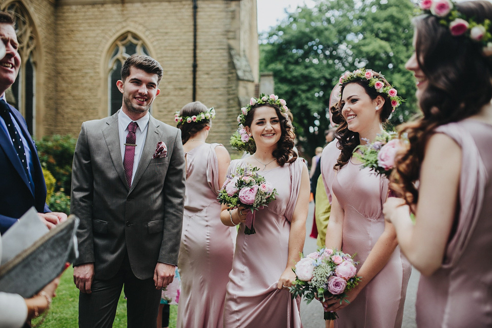
[[(253, 117), (255, 116), (256, 109), (264, 106), (275, 109), (280, 122), (280, 130), (282, 131), (280, 139), (277, 142), (277, 149), (273, 151), (272, 155), (276, 158), (276, 161), (280, 166), (283, 166), (285, 163), (292, 163), (297, 159), (297, 153), (294, 151), (294, 139), (296, 136), (294, 134), (292, 125), (289, 124), (288, 120), (285, 118), (285, 116), (283, 116), (282, 112), (280, 112), (280, 107), (273, 104), (256, 104), (252, 106), (251, 109), (248, 111), (248, 115), (246, 115), (244, 126), (251, 128), (251, 123), (253, 122)], [(255, 152), (248, 149), (247, 151), (251, 154)]]

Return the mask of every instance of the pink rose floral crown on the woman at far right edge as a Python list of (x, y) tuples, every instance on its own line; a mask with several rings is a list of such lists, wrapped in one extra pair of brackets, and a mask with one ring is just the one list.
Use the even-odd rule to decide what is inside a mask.
[(440, 18), (439, 23), (449, 28), (453, 36), (465, 35), (474, 42), (482, 44), (483, 54), (492, 55), (492, 34), (490, 20), (478, 24), (458, 11), (450, 0), (422, 0), (420, 9), (426, 14)]

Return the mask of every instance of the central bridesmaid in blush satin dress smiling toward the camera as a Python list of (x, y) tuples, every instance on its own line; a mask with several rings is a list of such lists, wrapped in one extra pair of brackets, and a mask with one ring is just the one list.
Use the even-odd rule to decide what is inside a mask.
[(246, 214), (242, 208), (222, 206), (222, 223), (240, 223), (227, 285), (224, 327), (300, 328), (300, 300), (292, 299), (288, 288), (295, 280), (292, 268), (304, 246), (309, 173), (292, 150), (294, 134), (286, 112), (275, 100), (262, 104), (257, 100), (241, 121), (254, 140), (249, 145), (254, 142), (256, 151), (243, 148), (253, 155), (233, 160), (228, 173), (241, 166), (257, 167), (278, 195), (268, 207), (256, 212), (253, 235), (244, 234)]

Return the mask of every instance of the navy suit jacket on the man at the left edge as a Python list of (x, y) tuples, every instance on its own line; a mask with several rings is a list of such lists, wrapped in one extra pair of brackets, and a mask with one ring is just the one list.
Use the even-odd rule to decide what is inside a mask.
[(37, 157), (36, 146), (32, 140), (24, 117), (19, 111), (9, 105), (12, 116), (17, 121), (24, 136), (26, 136), (31, 150), (34, 182), (34, 190), (29, 186), (29, 181), (20, 163), (19, 156), (15, 152), (10, 135), (0, 128), (0, 233), (4, 233), (31, 207), (35, 207), (40, 213), (50, 212), (46, 204), (46, 184)]

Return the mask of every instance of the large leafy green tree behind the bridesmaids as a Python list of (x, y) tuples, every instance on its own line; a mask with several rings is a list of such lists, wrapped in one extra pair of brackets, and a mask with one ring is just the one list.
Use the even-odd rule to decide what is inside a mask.
[(407, 99), (393, 124), (415, 113), (415, 82), (404, 68), (413, 51), (413, 10), (410, 0), (318, 0), (260, 37), (260, 70), (273, 72), (304, 154), (324, 144), (330, 92), (346, 70), (381, 72)]

